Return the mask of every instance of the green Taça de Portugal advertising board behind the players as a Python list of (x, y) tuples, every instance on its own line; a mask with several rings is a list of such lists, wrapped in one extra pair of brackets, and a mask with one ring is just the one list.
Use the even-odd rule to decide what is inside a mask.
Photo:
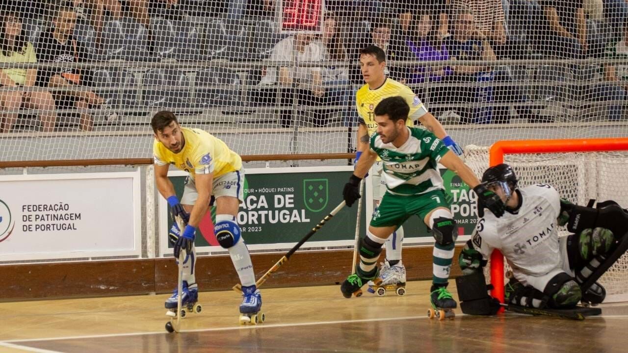
[[(246, 171), (244, 202), (237, 215), (242, 236), (251, 250), (290, 249), (300, 241), (320, 220), (342, 202), (342, 189), (352, 173), (351, 166), (298, 167), (298, 168), (253, 168)], [(472, 234), (477, 220), (475, 194), (468, 185), (447, 168), (440, 168), (447, 195), (452, 202), (452, 213), (458, 223), (458, 235)], [(171, 181), (178, 197), (183, 194), (187, 173), (171, 171)], [(364, 236), (372, 212), (370, 180), (362, 197), (360, 236)], [(161, 207), (161, 254), (171, 253), (167, 241), (171, 220), (168, 206), (160, 198)], [(212, 208), (212, 212), (215, 212)], [(208, 212), (197, 229), (196, 246), (199, 252), (224, 251), (214, 236), (215, 214)], [(345, 207), (325, 224), (307, 247), (353, 246), (357, 204)], [(405, 244), (433, 244), (431, 232), (423, 220), (411, 217), (404, 225)]]

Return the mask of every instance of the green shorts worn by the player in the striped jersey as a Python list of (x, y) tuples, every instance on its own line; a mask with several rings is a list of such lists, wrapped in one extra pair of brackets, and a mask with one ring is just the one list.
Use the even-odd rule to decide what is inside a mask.
[(423, 222), (425, 216), (437, 207), (452, 207), (445, 197), (445, 190), (438, 189), (421, 195), (399, 196), (386, 193), (371, 219), (372, 227), (401, 226), (411, 215), (418, 215)]

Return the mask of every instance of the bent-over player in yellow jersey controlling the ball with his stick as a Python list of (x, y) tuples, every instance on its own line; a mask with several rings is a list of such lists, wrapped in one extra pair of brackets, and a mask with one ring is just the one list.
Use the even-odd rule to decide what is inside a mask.
[[(198, 300), (198, 286), (194, 274), (196, 253), (195, 229), (207, 213), (210, 200), (215, 199), (216, 224), (214, 232), (220, 246), (229, 250), (242, 283), (241, 322), (254, 320), (262, 300), (255, 286), (255, 274), (249, 250), (244, 244), (237, 212), (243, 200), (244, 169), (242, 159), (227, 144), (200, 129), (181, 128), (175, 114), (168, 111), (153, 116), (153, 155), (157, 189), (168, 200), (172, 219), (180, 217), (184, 229), (173, 225), (169, 240), (174, 244), (175, 258), (181, 249), (187, 251), (183, 261), (183, 290), (181, 306), (192, 307)], [(190, 175), (185, 180), (183, 197), (178, 200), (170, 179), (170, 165)], [(182, 231), (182, 234), (181, 234)], [(179, 293), (166, 300), (166, 308), (176, 311)]]

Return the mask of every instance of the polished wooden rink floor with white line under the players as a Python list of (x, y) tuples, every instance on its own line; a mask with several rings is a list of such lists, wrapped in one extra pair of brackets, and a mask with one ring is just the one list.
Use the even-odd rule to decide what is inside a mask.
[[(452, 283), (452, 286), (454, 283)], [(339, 286), (263, 290), (266, 322), (238, 323), (232, 291), (168, 334), (167, 295), (0, 303), (0, 352), (626, 352), (628, 306), (583, 322), (524, 315), (429, 320), (427, 282), (399, 297), (345, 299)], [(455, 288), (451, 288), (455, 293)]]

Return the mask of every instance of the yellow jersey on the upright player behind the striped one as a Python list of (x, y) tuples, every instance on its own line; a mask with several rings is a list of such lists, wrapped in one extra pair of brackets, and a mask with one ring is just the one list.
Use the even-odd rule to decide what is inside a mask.
[(420, 118), (425, 114), (427, 109), (423, 106), (423, 102), (419, 99), (418, 95), (414, 94), (408, 86), (401, 84), (389, 77), (386, 81), (377, 89), (369, 89), (369, 85), (366, 84), (357, 91), (355, 95), (355, 104), (357, 105), (357, 112), (360, 114), (360, 124), (366, 125), (369, 131), (369, 136), (375, 133), (377, 130), (377, 124), (375, 122), (375, 107), (384, 98), (394, 97), (401, 95), (408, 106), (410, 106), (410, 114), (406, 125), (414, 126), (413, 121)]

